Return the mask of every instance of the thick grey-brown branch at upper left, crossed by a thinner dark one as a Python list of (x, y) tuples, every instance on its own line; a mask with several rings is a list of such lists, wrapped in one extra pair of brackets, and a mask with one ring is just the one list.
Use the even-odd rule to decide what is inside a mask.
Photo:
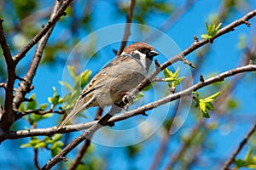
[[(52, 8), (52, 13), (50, 14), (49, 22), (48, 22), (48, 23), (53, 23), (53, 24), (52, 24), (52, 26), (49, 26), (49, 29), (44, 33), (44, 37), (42, 37), (40, 39), (40, 41), (38, 42), (38, 46), (37, 46), (35, 54), (32, 58), (32, 62), (30, 64), (28, 70), (26, 71), (26, 76), (24, 77), (25, 81), (20, 82), (20, 86), (15, 92), (15, 98), (14, 98), (14, 102), (13, 102), (15, 109), (19, 108), (20, 103), (22, 101), (24, 101), (25, 95), (31, 91), (32, 80), (36, 74), (36, 71), (38, 70), (38, 65), (43, 56), (44, 47), (46, 46), (49, 36), (54, 29), (55, 22), (58, 21), (57, 19), (55, 19), (55, 17), (57, 16), (57, 13), (59, 12), (59, 9), (61, 8), (62, 3), (63, 3), (62, 0), (55, 0), (55, 5)], [(64, 11), (65, 8), (62, 10)], [(60, 9), (60, 11), (61, 11), (61, 9)], [(61, 13), (63, 14), (63, 12), (60, 12), (60, 14)], [(61, 15), (60, 15), (60, 17), (61, 17)], [(55, 19), (55, 22), (52, 21), (54, 19)]]

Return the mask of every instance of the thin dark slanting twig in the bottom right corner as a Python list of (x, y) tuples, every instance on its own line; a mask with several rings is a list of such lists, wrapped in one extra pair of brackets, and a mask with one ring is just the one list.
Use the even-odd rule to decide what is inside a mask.
[(236, 148), (232, 156), (228, 161), (225, 162), (224, 167), (222, 169), (228, 170), (230, 165), (235, 161), (236, 156), (239, 154), (240, 150), (243, 148), (245, 144), (247, 144), (248, 139), (252, 136), (252, 134), (256, 131), (256, 122), (254, 122), (253, 127), (251, 130), (247, 133), (244, 139), (241, 140), (241, 143), (239, 146)]

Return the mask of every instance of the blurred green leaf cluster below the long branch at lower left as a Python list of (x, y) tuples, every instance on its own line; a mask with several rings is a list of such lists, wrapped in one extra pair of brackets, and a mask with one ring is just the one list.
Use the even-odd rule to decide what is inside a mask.
[(61, 151), (61, 147), (64, 145), (61, 142), (62, 135), (55, 134), (52, 138), (46, 136), (44, 139), (38, 139), (37, 136), (33, 136), (27, 144), (21, 144), (20, 148), (32, 147), (34, 149), (40, 148), (41, 150), (48, 149), (52, 156), (57, 155)]

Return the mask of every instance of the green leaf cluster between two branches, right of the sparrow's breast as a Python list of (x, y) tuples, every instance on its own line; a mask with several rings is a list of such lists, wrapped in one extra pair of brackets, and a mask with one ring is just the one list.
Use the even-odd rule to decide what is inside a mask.
[(176, 86), (180, 84), (180, 82), (182, 82), (185, 78), (185, 77), (178, 77), (178, 73), (179, 73), (179, 67), (174, 73), (172, 71), (169, 71), (167, 68), (164, 70), (165, 81), (167, 82), (171, 92), (174, 92)]

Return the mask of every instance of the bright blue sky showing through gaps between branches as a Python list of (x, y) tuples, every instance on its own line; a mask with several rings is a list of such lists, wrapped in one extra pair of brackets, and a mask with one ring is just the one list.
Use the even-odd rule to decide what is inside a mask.
[[(49, 1), (50, 2), (50, 1)], [(45, 6), (51, 6), (52, 3), (47, 2)], [(78, 1), (81, 2), (81, 1)], [(172, 1), (171, 1), (172, 2)], [(183, 1), (180, 1), (183, 3)], [(176, 2), (179, 4), (180, 2)], [(172, 26), (171, 29), (166, 31), (166, 36), (170, 37), (173, 40), (173, 48), (174, 44), (177, 44), (177, 47), (181, 50), (188, 48), (189, 45), (194, 41), (193, 37), (196, 35), (197, 37), (201, 38), (201, 34), (206, 33), (206, 27), (205, 27), (205, 21), (209, 20), (209, 15), (214, 14), (218, 8), (220, 8), (220, 3), (222, 1), (220, 0), (212, 0), (212, 1), (203, 1), (198, 0), (196, 1), (195, 5), (189, 9), (187, 14), (184, 14), (183, 17), (177, 21), (175, 25)], [(226, 22), (224, 23), (224, 26), (229, 24), (231, 21), (239, 19), (242, 15), (246, 14), (250, 9), (253, 9), (256, 7), (256, 4), (253, 0), (248, 1), (250, 2), (250, 5), (247, 6), (246, 9), (242, 10), (236, 10), (234, 15), (230, 16)], [(79, 3), (76, 3), (76, 8), (79, 8)], [(115, 24), (122, 24), (125, 22), (125, 17), (119, 17), (115, 16), (114, 10), (113, 10), (113, 4), (107, 3), (105, 1), (96, 1), (94, 12), (92, 14), (93, 18), (93, 31), (97, 31), (98, 29), (102, 29), (105, 26), (113, 26)], [(79, 13), (79, 10), (78, 10)], [(152, 26), (154, 28), (158, 28), (160, 24), (166, 20), (168, 16), (162, 15), (162, 14), (151, 14), (148, 17), (147, 25)], [(66, 18), (63, 17), (62, 22), (65, 22)], [(67, 19), (68, 20), (68, 19)], [(252, 34), (253, 29), (255, 30), (255, 22), (256, 20), (252, 20), (252, 27), (247, 28), (247, 26), (239, 26), (236, 31), (230, 32), (229, 34), (224, 35), (223, 37), (219, 37), (214, 41), (212, 46), (212, 51), (209, 55), (207, 55), (207, 60), (204, 63), (200, 74), (204, 75), (204, 77), (207, 77), (207, 75), (212, 73), (220, 73), (222, 71), (227, 71), (233, 68), (236, 68), (238, 62), (241, 60), (241, 50), (237, 48), (237, 44), (239, 41), (239, 37), (241, 34), (245, 34), (247, 38), (250, 38), (249, 35)], [(122, 31), (122, 30), (121, 30)], [(49, 41), (53, 40), (55, 37), (61, 37), (61, 33), (66, 32), (66, 30), (63, 30), (63, 27), (57, 25), (55, 27), (55, 30), (53, 31), (52, 37), (50, 37)], [(91, 33), (91, 32), (90, 32)], [(88, 32), (80, 31), (79, 32), (79, 38), (82, 40), (84, 37), (87, 37), (89, 35)], [(66, 35), (71, 37), (72, 35)], [(110, 37), (116, 36), (116, 35), (108, 35)], [(132, 38), (133, 35), (131, 35)], [(254, 34), (255, 36), (255, 34)], [(104, 37), (106, 38), (106, 37)], [(108, 38), (107, 38), (108, 39)], [(121, 40), (120, 40), (121, 41)], [(249, 44), (252, 44), (252, 42), (248, 42)], [(168, 47), (169, 44), (162, 44), (161, 40), (158, 40), (154, 42), (155, 47), (163, 48)], [(170, 51), (172, 53), (177, 53), (178, 48), (175, 47), (175, 50), (172, 48)], [(96, 73), (96, 71), (99, 71), (99, 69), (102, 68), (103, 65), (108, 62), (111, 57), (107, 54), (112, 54), (112, 49), (118, 49), (119, 43), (114, 43), (111, 46), (108, 46), (106, 48), (103, 48), (102, 51), (99, 51), (99, 55), (95, 59), (91, 59), (91, 61), (88, 64), (88, 67), (86, 69), (92, 70), (93, 74)], [(177, 49), (176, 49), (177, 48)], [(168, 48), (166, 48), (167, 50)], [(73, 48), (68, 49), (69, 52), (72, 52)], [(170, 51), (166, 52), (169, 53)], [(174, 51), (174, 52), (173, 52)], [(160, 51), (162, 53), (162, 51)], [(171, 52), (170, 52), (171, 53)], [(22, 61), (23, 64), (26, 64), (31, 59), (32, 53), (28, 54), (26, 59)], [(67, 54), (61, 55), (62, 59), (67, 59), (70, 57)], [(114, 57), (114, 56), (113, 56)], [(161, 58), (158, 58), (160, 63), (164, 62), (166, 59), (171, 58), (172, 56), (164, 56), (163, 53), (160, 55)], [(195, 54), (189, 54), (187, 59), (194, 61), (195, 60)], [(86, 61), (84, 61), (86, 62)], [(22, 64), (21, 64), (22, 65)], [(85, 68), (83, 68), (85, 69)], [(63, 65), (54, 65), (52, 67), (51, 65), (41, 65), (38, 68), (37, 75), (34, 79), (35, 89), (32, 91), (32, 93), (37, 94), (38, 103), (47, 103), (48, 97), (53, 94), (52, 87), (56, 87), (58, 93), (61, 93), (61, 85), (59, 84), (59, 81), (62, 80), (63, 77)], [(185, 72), (183, 73), (185, 74)], [(184, 75), (186, 76), (186, 75)], [(253, 75), (255, 78), (255, 74)], [(199, 78), (198, 78), (199, 79)], [(195, 79), (194, 81), (197, 82), (198, 79)], [(255, 79), (253, 79), (255, 82)], [(238, 115), (238, 116), (247, 116), (252, 115), (255, 118), (255, 108), (254, 104), (256, 102), (255, 95), (256, 95), (256, 88), (253, 85), (252, 82), (252, 73), (248, 73), (247, 76), (241, 80), (241, 85), (238, 85), (236, 88), (236, 93), (234, 94), (234, 99), (238, 99), (239, 101), (239, 108), (232, 112), (232, 115)], [(165, 85), (158, 85), (158, 87), (162, 88), (165, 87)], [(166, 88), (166, 87), (165, 87)], [(207, 88), (206, 88), (207, 89)], [(249, 89), (249, 90), (247, 90)], [(207, 92), (207, 90), (205, 90)], [(216, 89), (215, 92), (217, 92), (218, 89)], [(215, 92), (212, 92), (215, 93)], [(209, 93), (209, 92), (207, 92)], [(146, 93), (147, 94), (147, 93)], [(148, 94), (150, 95), (150, 94)], [(210, 95), (210, 94), (205, 94)], [(147, 95), (145, 95), (147, 96)], [(150, 97), (143, 100), (143, 102), (147, 103), (149, 101), (152, 101)], [(172, 105), (171, 105), (172, 106)], [(160, 108), (162, 109), (162, 108)], [(90, 109), (90, 112), (94, 112), (95, 109)], [(159, 111), (159, 110), (156, 110)], [(38, 124), (40, 127), (49, 127), (49, 126), (55, 126), (58, 122), (56, 121), (56, 118), (58, 116), (53, 117), (52, 122), (45, 122), (42, 121)], [(189, 118), (192, 116), (190, 115)], [(181, 135), (186, 129), (193, 126), (193, 119), (187, 119), (186, 122), (183, 124), (183, 127), (178, 131), (177, 134), (174, 134), (174, 137), (177, 137)], [(132, 118), (135, 121), (141, 121), (143, 117), (138, 118)], [(236, 119), (236, 117), (235, 117)], [(255, 119), (254, 119), (255, 120)], [(207, 120), (207, 122), (218, 122), (218, 117), (212, 116), (211, 119)], [(131, 121), (133, 122), (133, 121)], [(221, 122), (221, 121), (219, 121)], [(239, 120), (236, 120), (235, 122), (239, 122)], [(122, 127), (125, 122), (118, 122), (117, 127)], [(127, 123), (127, 122), (126, 122)], [(129, 123), (129, 121), (128, 121)], [(217, 158), (217, 165), (219, 162), (224, 161), (227, 157), (230, 156), (230, 154), (233, 152), (233, 150), (236, 148), (237, 144), (240, 143), (241, 138), (245, 135), (247, 130), (251, 127), (253, 123), (252, 121), (249, 122), (241, 122), (237, 123), (238, 125), (234, 127), (234, 129), (230, 129), (230, 133), (223, 134), (220, 133), (221, 129), (215, 130), (213, 133), (211, 133), (211, 139), (212, 142), (214, 142), (217, 147), (217, 150), (215, 150), (211, 155), (213, 157)], [(23, 124), (23, 123), (22, 123)], [(29, 126), (28, 124), (25, 124), (26, 126)], [(74, 133), (72, 136), (78, 136), (79, 133)], [(128, 136), (129, 138), (129, 136)], [(22, 139), (21, 144), (28, 141), (28, 139)], [(224, 142), (223, 142), (224, 141)], [(154, 133), (149, 139), (143, 141), (143, 150), (142, 153), (137, 156), (137, 159), (134, 163), (135, 167), (142, 167), (143, 169), (147, 169), (150, 164), (145, 162), (152, 161), (152, 155), (154, 155), (156, 148), (158, 147), (158, 144), (160, 142), (159, 133)], [(172, 142), (171, 142), (172, 143)], [(171, 151), (175, 149), (177, 146), (177, 141), (170, 144), (170, 148), (168, 148), (168, 151)], [(2, 153), (6, 153), (8, 156), (3, 156), (1, 154), (0, 158), (5, 163), (9, 161), (9, 159), (15, 159), (18, 160), (18, 157), (21, 157), (21, 160), (23, 162), (32, 163), (32, 149), (19, 149), (24, 150), (24, 154), (27, 154), (26, 157), (29, 157), (29, 159), (22, 158), (23, 152), (17, 153), (18, 156), (15, 156), (15, 153), (9, 152), (9, 147), (15, 147), (16, 149), (19, 148), (19, 144), (16, 141), (4, 141), (3, 144), (1, 144), (1, 150), (3, 150)], [(77, 150), (77, 149), (76, 149)], [(116, 169), (116, 168), (122, 168), (127, 169), (130, 167), (128, 164), (129, 162), (125, 158), (125, 148), (119, 147), (119, 148), (112, 148), (108, 146), (102, 146), (100, 144), (95, 144), (95, 150), (96, 150), (96, 156), (100, 156), (101, 152), (104, 153), (103, 155), (107, 155), (108, 157), (108, 169)], [(172, 151), (171, 151), (172, 152)], [(74, 152), (73, 152), (74, 153)], [(169, 152), (168, 152), (169, 154)], [(242, 152), (244, 154), (244, 152)], [(73, 154), (71, 154), (73, 156)], [(202, 156), (207, 156), (207, 153), (202, 153)], [(41, 162), (41, 165), (44, 164), (45, 160), (48, 160), (50, 158), (48, 151), (43, 151), (40, 153), (39, 161)], [(20, 158), (19, 158), (20, 159)], [(224, 160), (223, 160), (224, 159)], [(162, 163), (166, 163), (168, 161), (168, 155), (166, 155), (165, 160)], [(121, 166), (122, 165), (122, 166)], [(162, 164), (161, 167), (164, 167), (166, 164)], [(207, 168), (212, 167), (212, 165), (206, 165)], [(193, 169), (203, 169), (206, 167), (195, 167)], [(214, 168), (214, 167), (213, 167)], [(216, 168), (216, 167), (215, 167)]]

